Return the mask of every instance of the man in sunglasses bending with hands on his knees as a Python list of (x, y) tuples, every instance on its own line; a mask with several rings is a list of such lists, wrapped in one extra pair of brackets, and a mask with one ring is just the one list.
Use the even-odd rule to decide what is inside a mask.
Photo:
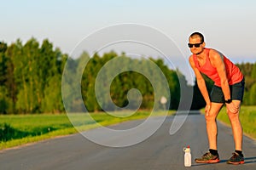
[[(200, 32), (194, 32), (189, 37), (189, 48), (192, 55), (189, 63), (195, 71), (198, 88), (207, 105), (206, 122), (209, 151), (196, 158), (198, 163), (217, 163), (219, 161), (217, 149), (217, 123), (218, 112), (225, 104), (230, 118), (236, 150), (227, 163), (243, 164), (242, 155), (242, 127), (239, 120), (239, 110), (244, 91), (244, 77), (239, 68), (223, 54), (212, 48), (205, 48), (206, 43)], [(201, 73), (214, 82), (212, 92), (207, 92), (206, 82)]]

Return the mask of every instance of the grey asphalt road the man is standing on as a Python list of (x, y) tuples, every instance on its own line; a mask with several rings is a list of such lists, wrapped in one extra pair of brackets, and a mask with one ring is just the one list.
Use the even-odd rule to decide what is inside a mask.
[[(256, 142), (244, 137), (243, 165), (228, 165), (227, 159), (234, 151), (229, 127), (218, 123), (218, 164), (183, 166), (183, 147), (191, 147), (192, 160), (207, 151), (207, 133), (204, 116), (189, 115), (183, 127), (174, 135), (169, 134), (173, 116), (142, 143), (125, 148), (111, 148), (94, 144), (80, 133), (28, 144), (9, 150), (0, 150), (0, 170), (169, 170), (169, 169), (256, 169)], [(116, 129), (132, 127), (141, 121), (125, 122), (113, 126)], [(95, 129), (101, 131), (101, 129)], [(119, 140), (119, 139), (116, 139)]]

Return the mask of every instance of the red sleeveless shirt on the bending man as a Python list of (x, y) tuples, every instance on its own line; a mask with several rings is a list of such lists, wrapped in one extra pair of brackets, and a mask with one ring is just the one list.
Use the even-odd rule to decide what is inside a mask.
[[(195, 66), (196, 68), (201, 71), (203, 74), (205, 74), (207, 77), (211, 78), (214, 83), (214, 85), (221, 87), (221, 83), (220, 83), (220, 77), (218, 76), (218, 71), (215, 67), (212, 66), (210, 58), (209, 58), (209, 51), (210, 48), (205, 48), (206, 52), (207, 52), (207, 59), (206, 59), (206, 63), (202, 66), (199, 65), (198, 60), (196, 58), (196, 55), (193, 55), (193, 59), (195, 62)], [(226, 74), (227, 74), (227, 78), (228, 78), (228, 82), (230, 85), (236, 84), (237, 82), (241, 82), (241, 80), (243, 79), (243, 75), (241, 74), (241, 71), (239, 70), (239, 68), (234, 65), (230, 59), (227, 59), (224, 56), (224, 65), (226, 68)]]

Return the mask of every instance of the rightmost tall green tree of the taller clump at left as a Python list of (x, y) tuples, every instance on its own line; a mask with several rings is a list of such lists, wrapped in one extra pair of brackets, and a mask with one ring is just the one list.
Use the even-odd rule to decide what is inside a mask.
[[(64, 106), (61, 99), (61, 75), (67, 60), (59, 48), (53, 49), (53, 44), (47, 39), (39, 48), (37, 97), (40, 111), (61, 112)], [(42, 107), (41, 107), (42, 105)]]

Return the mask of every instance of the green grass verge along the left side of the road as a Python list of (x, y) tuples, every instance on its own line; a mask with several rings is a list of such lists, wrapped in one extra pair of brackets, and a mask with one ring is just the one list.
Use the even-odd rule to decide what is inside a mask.
[[(108, 126), (119, 122), (143, 119), (149, 116), (149, 111), (113, 112), (118, 116), (110, 116), (104, 112), (92, 114), (36, 114), (36, 115), (8, 115), (0, 116), (0, 150), (20, 144), (38, 142), (91, 128)], [(168, 115), (174, 113), (169, 111)], [(163, 116), (164, 112), (157, 112), (154, 116)], [(93, 117), (93, 120), (90, 119)], [(73, 123), (70, 122), (72, 120)], [(75, 127), (73, 127), (75, 124)]]

